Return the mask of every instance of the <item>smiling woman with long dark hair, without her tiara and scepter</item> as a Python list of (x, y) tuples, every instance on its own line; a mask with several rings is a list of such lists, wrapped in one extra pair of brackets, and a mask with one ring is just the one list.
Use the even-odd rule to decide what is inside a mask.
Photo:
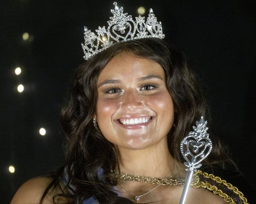
[[(27, 181), (11, 204), (179, 203), (186, 178), (180, 142), (201, 115), (209, 124), (208, 110), (195, 73), (175, 47), (154, 37), (115, 43), (75, 73), (60, 114), (66, 163)], [(228, 171), (235, 168), (232, 160), (209, 134), (213, 150), (201, 170), (241, 179)], [(120, 179), (120, 172), (174, 181), (134, 182)], [(200, 182), (189, 188), (186, 203), (247, 203), (252, 192), (197, 175)]]

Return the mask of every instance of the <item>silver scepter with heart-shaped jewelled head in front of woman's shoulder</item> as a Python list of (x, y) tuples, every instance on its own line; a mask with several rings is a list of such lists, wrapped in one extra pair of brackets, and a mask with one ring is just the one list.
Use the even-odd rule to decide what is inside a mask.
[(200, 121), (196, 121), (196, 126), (193, 126), (194, 131), (189, 132), (180, 143), (180, 151), (185, 158), (184, 165), (188, 171), (186, 181), (180, 198), (180, 204), (184, 204), (188, 193), (193, 173), (202, 166), (200, 164), (212, 151), (212, 141), (209, 134), (206, 132), (207, 120), (201, 116)]

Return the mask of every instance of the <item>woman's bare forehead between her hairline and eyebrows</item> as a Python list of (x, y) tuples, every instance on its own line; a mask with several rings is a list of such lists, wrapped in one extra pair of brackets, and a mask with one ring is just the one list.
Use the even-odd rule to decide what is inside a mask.
[(105, 79), (129, 80), (146, 75), (159, 75), (165, 78), (164, 69), (157, 62), (122, 52), (107, 63), (100, 73), (98, 83)]

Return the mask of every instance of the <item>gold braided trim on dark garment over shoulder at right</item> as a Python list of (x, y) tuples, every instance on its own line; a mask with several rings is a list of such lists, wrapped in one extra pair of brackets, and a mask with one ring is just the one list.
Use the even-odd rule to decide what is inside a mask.
[[(239, 197), (244, 201), (244, 204), (249, 204), (249, 203), (247, 203), (247, 199), (244, 197), (244, 194), (243, 194), (241, 191), (239, 191), (239, 190), (237, 189), (237, 187), (233, 186), (233, 185), (230, 184), (230, 183), (227, 183), (227, 181), (222, 180), (220, 177), (217, 177), (217, 176), (215, 177), (215, 176), (212, 175), (212, 174), (208, 174), (208, 173), (202, 172), (202, 171), (200, 171), (200, 170), (196, 171), (195, 175), (196, 175), (196, 174), (201, 174), (201, 175), (204, 176), (204, 178), (212, 179), (212, 180), (216, 181), (217, 183), (221, 183), (221, 184), (227, 186), (228, 189), (233, 190), (234, 193), (236, 193), (236, 194), (239, 195)], [(224, 200), (225, 200), (226, 202), (228, 202), (229, 204), (236, 204), (236, 203), (234, 202), (234, 200), (233, 200), (230, 196), (228, 196), (228, 194), (223, 193), (222, 190), (218, 189), (218, 188), (217, 188), (216, 186), (214, 186), (214, 185), (211, 185), (210, 183), (207, 183), (207, 182), (204, 183), (203, 181), (199, 181), (199, 182), (196, 183), (195, 185), (191, 185), (191, 186), (193, 186), (193, 187), (195, 187), (195, 188), (199, 188), (199, 187), (207, 188), (208, 190), (212, 191), (213, 193), (218, 194), (220, 197), (224, 198)]]

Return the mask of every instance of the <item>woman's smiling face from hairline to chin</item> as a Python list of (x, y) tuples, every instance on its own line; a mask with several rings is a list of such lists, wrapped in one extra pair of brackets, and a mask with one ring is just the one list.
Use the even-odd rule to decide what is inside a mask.
[(174, 107), (157, 62), (122, 52), (100, 73), (97, 90), (97, 122), (109, 142), (135, 150), (166, 139)]

